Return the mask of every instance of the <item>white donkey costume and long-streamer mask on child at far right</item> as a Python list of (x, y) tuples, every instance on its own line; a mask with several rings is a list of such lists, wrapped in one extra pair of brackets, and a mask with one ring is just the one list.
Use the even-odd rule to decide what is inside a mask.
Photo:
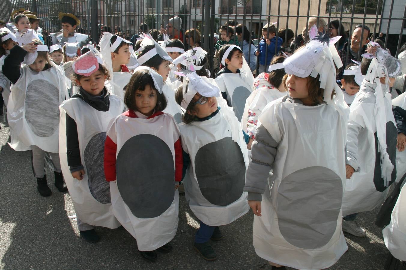
[[(397, 129), (391, 106), (388, 77), (397, 76), (400, 62), (377, 43), (369, 47), (373, 58), (350, 109), (347, 164), (355, 172), (347, 179), (343, 214), (365, 212), (381, 205), (396, 178)], [(376, 46), (377, 45), (377, 46)], [(381, 84), (380, 77), (387, 78)]]

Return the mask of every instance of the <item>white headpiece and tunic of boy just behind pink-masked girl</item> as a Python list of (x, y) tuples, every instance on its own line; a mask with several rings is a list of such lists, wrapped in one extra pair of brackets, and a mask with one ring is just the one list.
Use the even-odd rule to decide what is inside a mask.
[(125, 86), (127, 86), (128, 82), (130, 81), (132, 74), (130, 72), (114, 72), (111, 60), (111, 53), (115, 51), (123, 41), (128, 44), (132, 43), (121, 38), (120, 36), (117, 36), (114, 44), (111, 44), (110, 39), (112, 38), (112, 36), (114, 35), (111, 33), (104, 33), (102, 39), (100, 39), (99, 42), (100, 54), (102, 55), (104, 65), (111, 74), (109, 85), (106, 85), (106, 87), (112, 94), (119, 96), (121, 100), (124, 100)]

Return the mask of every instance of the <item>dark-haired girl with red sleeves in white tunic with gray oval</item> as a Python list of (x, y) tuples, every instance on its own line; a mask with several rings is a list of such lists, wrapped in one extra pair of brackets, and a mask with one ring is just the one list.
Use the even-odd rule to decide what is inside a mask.
[(171, 251), (178, 225), (182, 149), (177, 123), (162, 112), (162, 87), (152, 69), (134, 70), (124, 96), (128, 111), (110, 122), (104, 152), (114, 215), (146, 261), (157, 259), (155, 250)]

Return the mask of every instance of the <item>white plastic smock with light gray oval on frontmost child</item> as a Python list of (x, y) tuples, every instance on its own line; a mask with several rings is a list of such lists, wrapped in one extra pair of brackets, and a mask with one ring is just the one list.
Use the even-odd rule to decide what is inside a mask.
[[(341, 230), (347, 119), (332, 105), (269, 103), (259, 116), (278, 143), (273, 174), (254, 216), (259, 257), (297, 269), (324, 269), (348, 249)], [(334, 142), (334, 143), (332, 143)]]

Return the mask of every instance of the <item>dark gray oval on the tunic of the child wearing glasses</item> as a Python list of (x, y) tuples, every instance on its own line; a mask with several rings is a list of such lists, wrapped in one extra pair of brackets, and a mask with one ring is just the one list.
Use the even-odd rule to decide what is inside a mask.
[(227, 206), (241, 197), (245, 184), (244, 156), (230, 137), (201, 147), (194, 164), (200, 191), (211, 204)]

